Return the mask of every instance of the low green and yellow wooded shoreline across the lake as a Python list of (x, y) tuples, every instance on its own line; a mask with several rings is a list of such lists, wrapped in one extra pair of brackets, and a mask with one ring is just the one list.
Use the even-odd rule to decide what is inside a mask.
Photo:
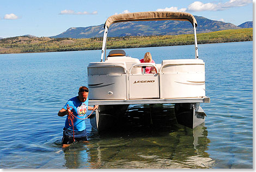
[[(198, 44), (252, 41), (253, 28), (221, 30), (197, 34)], [(194, 44), (194, 35), (108, 37), (107, 48), (161, 47)], [(102, 37), (91, 39), (52, 39), (50, 37), (10, 37), (0, 40), (0, 54), (63, 52), (101, 49)]]

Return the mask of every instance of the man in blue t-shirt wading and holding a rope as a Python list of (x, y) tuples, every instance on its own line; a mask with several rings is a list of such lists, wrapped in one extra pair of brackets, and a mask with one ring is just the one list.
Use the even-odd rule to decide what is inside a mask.
[(99, 105), (88, 106), (89, 89), (86, 86), (79, 88), (78, 96), (69, 99), (58, 112), (58, 116), (67, 115), (63, 129), (62, 147), (66, 148), (74, 141), (87, 141), (86, 112), (98, 109)]

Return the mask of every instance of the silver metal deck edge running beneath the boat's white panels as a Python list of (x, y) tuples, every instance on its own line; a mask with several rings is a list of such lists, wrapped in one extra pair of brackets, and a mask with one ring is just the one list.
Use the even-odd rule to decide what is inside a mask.
[(129, 100), (89, 100), (88, 105), (131, 105), (131, 104), (175, 104), (175, 103), (210, 103), (209, 97), (173, 98), (173, 99), (129, 99)]

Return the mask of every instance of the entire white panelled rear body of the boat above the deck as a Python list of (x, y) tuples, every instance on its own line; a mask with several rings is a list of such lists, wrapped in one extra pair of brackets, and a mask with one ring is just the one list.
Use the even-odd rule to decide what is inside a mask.
[[(112, 58), (121, 60), (121, 57)], [(160, 68), (159, 76), (159, 74), (142, 74), (141, 67), (133, 67), (130, 72), (126, 71), (130, 69), (130, 66), (141, 65), (141, 63), (135, 58), (127, 56), (123, 56), (123, 58), (131, 61), (114, 62), (110, 60), (89, 63), (89, 99), (205, 97), (203, 60), (163, 60), (162, 65), (157, 64), (157, 68)], [(126, 74), (129, 75), (128, 78), (126, 78)]]

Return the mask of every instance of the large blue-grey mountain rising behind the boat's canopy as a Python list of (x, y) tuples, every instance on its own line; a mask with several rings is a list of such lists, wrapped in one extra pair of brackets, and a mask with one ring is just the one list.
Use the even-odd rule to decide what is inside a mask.
[[(218, 30), (241, 29), (231, 23), (214, 21), (202, 16), (194, 16), (197, 20), (197, 33), (209, 33)], [(103, 26), (69, 28), (62, 34), (52, 38), (71, 37), (75, 39), (102, 37)], [(118, 36), (149, 36), (193, 34), (193, 27), (187, 21), (136, 21), (114, 23), (108, 30), (109, 37)]]

